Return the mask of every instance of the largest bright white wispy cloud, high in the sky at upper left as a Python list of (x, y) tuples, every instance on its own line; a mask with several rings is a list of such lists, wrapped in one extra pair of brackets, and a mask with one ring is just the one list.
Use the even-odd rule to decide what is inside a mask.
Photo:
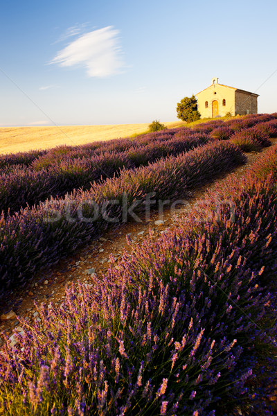
[(57, 52), (51, 63), (60, 67), (82, 66), (89, 77), (114, 75), (123, 67), (118, 34), (112, 26), (84, 33)]

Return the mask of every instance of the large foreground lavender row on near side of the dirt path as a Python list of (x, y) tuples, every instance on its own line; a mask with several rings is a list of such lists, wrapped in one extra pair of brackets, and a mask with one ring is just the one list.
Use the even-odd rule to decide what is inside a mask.
[[(269, 158), (276, 166), (277, 148)], [(248, 380), (267, 371), (256, 364), (276, 338), (276, 182), (252, 174), (207, 199), (205, 218), (195, 209), (92, 290), (69, 288), (60, 309), (39, 310), (42, 329), (27, 324), (0, 355), (2, 413), (240, 415), (246, 402), (247, 415), (272, 414)]]

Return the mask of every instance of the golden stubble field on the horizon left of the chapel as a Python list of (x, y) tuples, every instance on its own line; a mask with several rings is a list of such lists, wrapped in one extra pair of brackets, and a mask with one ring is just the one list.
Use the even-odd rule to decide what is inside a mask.
[[(163, 123), (168, 128), (185, 125), (182, 121)], [(44, 127), (1, 127), (0, 154), (27, 152), (34, 149), (54, 148), (55, 146), (76, 146), (129, 137), (148, 130), (149, 123), (107, 124), (107, 125), (51, 125)]]

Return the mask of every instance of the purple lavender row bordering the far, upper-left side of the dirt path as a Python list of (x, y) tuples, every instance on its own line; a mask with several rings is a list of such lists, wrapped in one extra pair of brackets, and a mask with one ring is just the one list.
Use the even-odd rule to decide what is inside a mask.
[(107, 227), (127, 221), (131, 214), (139, 220), (135, 214), (140, 211), (148, 214), (159, 201), (182, 198), (188, 189), (244, 162), (237, 146), (219, 141), (149, 166), (123, 169), (120, 177), (93, 184), (88, 191), (73, 191), (14, 216), (2, 215), (0, 296), (12, 286), (24, 285), (39, 268), (53, 265)]

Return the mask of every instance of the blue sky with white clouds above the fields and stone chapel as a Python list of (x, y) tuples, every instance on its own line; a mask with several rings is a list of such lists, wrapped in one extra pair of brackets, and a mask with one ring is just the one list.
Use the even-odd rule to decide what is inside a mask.
[(277, 3), (2, 0), (0, 126), (177, 120), (211, 78), (277, 112)]

